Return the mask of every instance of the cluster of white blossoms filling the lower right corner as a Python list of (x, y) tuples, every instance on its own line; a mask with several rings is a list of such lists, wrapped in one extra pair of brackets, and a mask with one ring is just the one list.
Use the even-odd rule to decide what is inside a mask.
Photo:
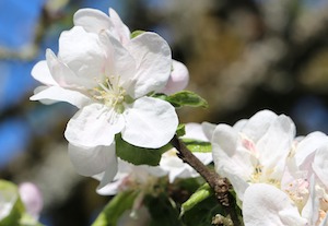
[(261, 110), (212, 134), (215, 170), (231, 181), (246, 226), (328, 224), (328, 136), (295, 136), (293, 121)]

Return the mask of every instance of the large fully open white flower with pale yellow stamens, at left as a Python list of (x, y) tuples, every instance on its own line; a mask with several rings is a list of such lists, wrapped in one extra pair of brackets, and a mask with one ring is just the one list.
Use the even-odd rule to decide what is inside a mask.
[(31, 99), (80, 108), (65, 132), (71, 160), (84, 176), (105, 171), (106, 183), (117, 170), (115, 134), (150, 148), (173, 138), (178, 124), (174, 107), (147, 96), (165, 87), (171, 64), (171, 49), (155, 33), (122, 46), (110, 29), (91, 33), (74, 26), (60, 35), (58, 56), (48, 49), (46, 61), (34, 67), (32, 75), (44, 85)]

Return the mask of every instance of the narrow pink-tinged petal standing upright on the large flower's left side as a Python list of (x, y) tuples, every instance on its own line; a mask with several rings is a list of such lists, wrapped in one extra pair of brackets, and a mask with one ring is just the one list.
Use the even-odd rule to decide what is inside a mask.
[(79, 78), (56, 57), (51, 49), (47, 49), (46, 58), (49, 71), (58, 85), (62, 87), (79, 87)]

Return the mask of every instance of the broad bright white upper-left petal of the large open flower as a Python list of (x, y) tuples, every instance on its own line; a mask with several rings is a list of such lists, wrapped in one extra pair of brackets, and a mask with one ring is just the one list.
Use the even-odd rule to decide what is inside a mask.
[(61, 33), (58, 59), (78, 76), (75, 84), (84, 87), (95, 87), (105, 76), (107, 56), (99, 37), (81, 26)]

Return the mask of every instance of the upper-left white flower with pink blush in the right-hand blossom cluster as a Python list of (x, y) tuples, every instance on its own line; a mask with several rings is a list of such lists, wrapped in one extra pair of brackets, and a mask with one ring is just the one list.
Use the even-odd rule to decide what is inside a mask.
[(293, 121), (262, 110), (234, 127), (216, 126), (212, 135), (215, 170), (229, 178), (243, 201), (250, 183), (280, 186), (295, 135)]

